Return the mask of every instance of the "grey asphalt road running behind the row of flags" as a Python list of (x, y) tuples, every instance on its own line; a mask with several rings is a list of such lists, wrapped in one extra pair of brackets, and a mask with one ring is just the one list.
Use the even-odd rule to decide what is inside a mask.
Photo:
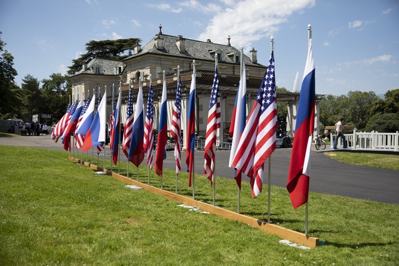
[[(0, 137), (0, 145), (62, 149), (49, 136)], [(0, 147), (1, 149), (1, 147)], [(155, 156), (155, 151), (154, 151)], [(228, 167), (230, 151), (217, 151), (215, 170), (218, 177), (233, 178), (234, 170)], [(121, 156), (125, 160), (125, 156)], [(101, 158), (101, 157), (100, 157)], [(106, 147), (106, 158), (110, 158), (110, 147)], [(186, 169), (185, 152), (182, 152), (182, 170)], [(291, 149), (277, 148), (271, 157), (271, 185), (285, 187), (291, 158)], [(143, 161), (145, 162), (145, 160)], [(266, 165), (268, 162), (266, 162)], [(164, 161), (167, 169), (176, 169), (173, 152), (167, 152)], [(204, 152), (195, 152), (195, 172), (204, 173)], [(267, 169), (267, 167), (265, 167)], [(267, 182), (267, 171), (264, 174)], [(243, 178), (245, 180), (245, 178)], [(249, 180), (249, 179), (247, 179)], [(342, 195), (374, 202), (399, 204), (399, 171), (346, 165), (325, 156), (322, 152), (311, 152), (310, 191), (330, 195)]]

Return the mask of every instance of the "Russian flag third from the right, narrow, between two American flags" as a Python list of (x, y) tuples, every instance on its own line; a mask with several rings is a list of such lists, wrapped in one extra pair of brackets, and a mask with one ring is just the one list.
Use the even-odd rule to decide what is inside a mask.
[(194, 170), (194, 143), (195, 143), (195, 69), (191, 77), (189, 113), (187, 115), (187, 147), (186, 165), (189, 171), (189, 186), (191, 186), (191, 176)]

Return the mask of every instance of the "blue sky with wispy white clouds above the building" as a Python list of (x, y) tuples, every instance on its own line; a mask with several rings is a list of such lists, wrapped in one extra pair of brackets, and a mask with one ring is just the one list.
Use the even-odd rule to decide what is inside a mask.
[(399, 88), (398, 0), (0, 0), (1, 40), (14, 56), (15, 82), (66, 74), (90, 40), (141, 38), (159, 31), (194, 40), (254, 47), (270, 57), (274, 38), (276, 86), (293, 91), (304, 75), (312, 28), (316, 93), (350, 90), (384, 95)]

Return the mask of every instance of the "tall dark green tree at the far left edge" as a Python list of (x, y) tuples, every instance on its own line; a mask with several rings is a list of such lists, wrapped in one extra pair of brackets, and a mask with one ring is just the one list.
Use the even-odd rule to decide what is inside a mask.
[[(1, 36), (1, 32), (0, 32)], [(0, 38), (0, 52), (5, 43)], [(22, 92), (14, 79), (18, 75), (14, 69), (14, 57), (5, 50), (0, 56), (0, 118), (21, 118)]]

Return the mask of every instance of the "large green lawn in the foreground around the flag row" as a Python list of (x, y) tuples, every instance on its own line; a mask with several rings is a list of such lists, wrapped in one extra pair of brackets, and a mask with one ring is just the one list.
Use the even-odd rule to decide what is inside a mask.
[[(397, 265), (399, 206), (311, 193), (309, 232), (321, 246), (300, 250), (237, 221), (205, 215), (110, 176), (75, 165), (69, 153), (0, 146), (0, 265)], [(97, 161), (97, 158), (95, 158)], [(100, 165), (101, 166), (101, 165)], [(110, 167), (106, 165), (107, 168)], [(121, 165), (122, 174), (126, 166)], [(175, 190), (165, 169), (163, 188)], [(136, 167), (130, 165), (136, 179)], [(187, 173), (179, 193), (191, 197)], [(147, 183), (147, 167), (139, 180)], [(150, 182), (160, 187), (152, 173)], [(213, 188), (195, 176), (196, 199)], [(267, 188), (264, 187), (264, 191)], [(303, 232), (304, 208), (271, 187), (271, 221)], [(234, 180), (217, 178), (217, 204), (237, 209)], [(241, 213), (267, 219), (267, 193), (252, 199), (243, 183)]]

